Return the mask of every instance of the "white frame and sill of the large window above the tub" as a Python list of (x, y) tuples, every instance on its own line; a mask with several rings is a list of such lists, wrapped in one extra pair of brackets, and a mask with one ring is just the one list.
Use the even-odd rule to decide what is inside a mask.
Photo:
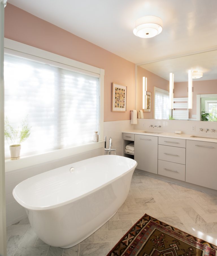
[(104, 74), (105, 70), (97, 68), (79, 61), (75, 61), (49, 51), (44, 51), (27, 44), (22, 44), (14, 40), (5, 38), (5, 54), (16, 57), (37, 61), (44, 64), (50, 64), (59, 68), (72, 70), (75, 72), (96, 76), (99, 78), (99, 142), (90, 142), (81, 146), (68, 147), (65, 149), (51, 150), (42, 154), (20, 157), (17, 160), (5, 160), (5, 172), (29, 167), (36, 164), (66, 158), (75, 154), (80, 154), (94, 149), (104, 147), (103, 140), (103, 122), (104, 122)]

